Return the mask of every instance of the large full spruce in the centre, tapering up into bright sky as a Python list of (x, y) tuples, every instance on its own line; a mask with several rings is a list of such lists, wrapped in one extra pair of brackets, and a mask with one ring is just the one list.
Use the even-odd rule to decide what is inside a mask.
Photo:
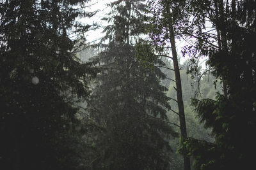
[[(105, 129), (95, 140), (99, 156), (93, 169), (168, 169), (168, 137), (176, 133), (167, 123), (166, 89), (159, 85), (165, 76), (135, 57), (134, 43), (145, 25), (144, 4), (115, 1), (110, 6), (113, 24), (105, 29), (109, 43), (99, 55), (105, 69), (89, 103), (93, 119)], [(147, 55), (154, 55), (153, 50)]]

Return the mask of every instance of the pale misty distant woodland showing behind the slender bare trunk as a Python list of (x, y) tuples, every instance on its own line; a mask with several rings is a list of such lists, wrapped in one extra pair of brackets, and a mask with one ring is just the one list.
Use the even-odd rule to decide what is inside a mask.
[[(191, 98), (202, 99), (204, 97), (208, 97), (214, 99), (216, 92), (221, 92), (221, 87), (217, 83), (216, 89), (214, 89), (213, 82), (215, 80), (212, 74), (204, 74), (200, 78), (200, 83), (198, 84), (198, 78), (200, 75), (193, 75), (187, 74), (186, 68), (190, 66), (189, 60), (185, 61), (183, 64), (180, 64), (180, 67), (183, 69), (180, 70), (180, 78), (182, 81), (182, 97), (184, 99), (184, 110), (186, 113), (186, 125), (188, 128), (188, 137), (189, 139), (195, 138), (199, 139), (200, 141), (205, 140), (205, 143), (209, 142), (211, 144), (214, 141), (213, 135), (211, 134), (211, 129), (204, 129), (204, 122), (200, 124), (200, 118), (196, 115), (196, 112), (193, 111), (193, 106), (191, 106)], [(174, 77), (173, 74), (167, 74), (169, 78)], [(199, 85), (199, 87), (198, 87)], [(176, 98), (176, 91), (173, 89), (175, 86), (175, 82), (170, 82), (170, 87), (167, 96), (172, 97), (173, 99)], [(200, 90), (200, 92), (198, 92)], [(177, 111), (177, 103), (173, 100), (170, 101), (170, 105), (172, 106), (172, 110)], [(173, 123), (179, 124), (179, 116), (173, 114), (173, 111), (169, 111), (168, 113), (169, 120), (172, 120)], [(175, 128), (176, 131), (179, 131), (179, 127)], [(170, 141), (170, 145), (176, 152), (173, 152), (171, 169), (184, 169), (183, 166), (183, 159), (180, 153), (180, 141), (179, 139), (174, 139)], [(200, 144), (199, 144), (200, 145)], [(203, 149), (203, 148), (200, 148)], [(203, 158), (205, 156), (202, 156)], [(191, 157), (191, 162), (193, 163), (196, 161)], [(193, 169), (193, 168), (192, 168)], [(194, 168), (196, 169), (196, 168)]]

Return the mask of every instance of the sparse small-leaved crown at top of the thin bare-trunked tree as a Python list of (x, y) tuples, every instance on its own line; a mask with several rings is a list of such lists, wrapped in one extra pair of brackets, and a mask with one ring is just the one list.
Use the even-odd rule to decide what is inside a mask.
[(169, 19), (172, 21), (175, 38), (179, 39), (182, 36), (182, 29), (189, 24), (189, 15), (186, 12), (188, 6), (188, 1), (148, 1), (147, 12), (151, 17), (148, 18), (150, 24), (147, 33), (150, 36), (150, 43), (155, 46), (157, 52), (163, 53), (171, 49)]

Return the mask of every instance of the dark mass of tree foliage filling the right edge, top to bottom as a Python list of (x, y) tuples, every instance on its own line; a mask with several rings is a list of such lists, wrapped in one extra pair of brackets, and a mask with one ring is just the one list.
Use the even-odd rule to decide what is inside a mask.
[[(188, 139), (184, 147), (195, 158), (198, 169), (250, 169), (254, 166), (255, 147), (255, 6), (253, 1), (205, 1), (211, 5), (212, 12), (217, 13), (210, 18), (216, 29), (220, 31), (221, 46), (212, 46), (209, 37), (200, 33), (204, 45), (196, 48), (202, 54), (209, 55), (208, 64), (214, 68), (214, 75), (227, 85), (227, 96), (217, 94), (216, 100), (193, 100), (195, 110), (210, 127), (215, 136), (214, 144)], [(199, 13), (205, 13), (201, 1), (194, 1)], [(215, 4), (215, 6), (214, 6)], [(250, 4), (250, 7), (248, 7)], [(202, 6), (200, 6), (202, 5)], [(225, 6), (224, 6), (225, 5)], [(218, 6), (219, 10), (217, 10)], [(254, 23), (254, 24), (253, 24)], [(204, 25), (205, 22), (200, 22)], [(199, 38), (198, 38), (199, 40)], [(217, 41), (217, 39), (216, 39)], [(207, 43), (208, 42), (208, 43)], [(208, 46), (207, 48), (205, 48)], [(219, 48), (216, 48), (219, 47)]]

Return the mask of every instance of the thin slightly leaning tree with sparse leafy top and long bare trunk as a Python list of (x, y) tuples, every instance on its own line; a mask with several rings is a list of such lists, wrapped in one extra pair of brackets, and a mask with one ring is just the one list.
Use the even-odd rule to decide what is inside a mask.
[[(177, 106), (179, 111), (173, 111), (179, 115), (179, 127), (181, 142), (188, 137), (186, 128), (186, 118), (184, 112), (184, 103), (182, 98), (182, 82), (180, 78), (180, 66), (178, 61), (175, 37), (179, 35), (180, 21), (186, 24), (187, 15), (183, 13), (186, 8), (186, 1), (148, 1), (148, 13), (152, 14), (150, 18), (151, 27), (149, 30), (150, 42), (156, 47), (161, 57), (172, 59), (173, 71), (175, 73), (175, 90), (177, 94)], [(166, 49), (167, 48), (167, 49)], [(168, 49), (169, 48), (169, 49)], [(164, 51), (165, 50), (165, 51)], [(171, 50), (172, 56), (164, 55), (166, 51)], [(184, 169), (190, 170), (190, 159), (184, 154)]]

